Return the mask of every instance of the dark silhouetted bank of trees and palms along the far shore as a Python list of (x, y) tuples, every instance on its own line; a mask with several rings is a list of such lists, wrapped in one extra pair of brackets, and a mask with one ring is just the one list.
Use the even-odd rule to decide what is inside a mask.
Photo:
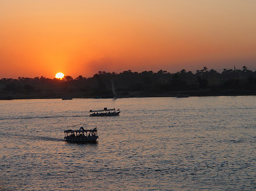
[(1, 99), (59, 98), (72, 97), (113, 97), (112, 82), (120, 97), (175, 96), (178, 93), (190, 96), (207, 95), (256, 95), (256, 71), (243, 66), (241, 70), (224, 69), (222, 73), (204, 67), (193, 74), (185, 69), (171, 74), (159, 70), (131, 70), (122, 73), (98, 71), (93, 77), (82, 75), (73, 79), (49, 79), (44, 77), (0, 80)]

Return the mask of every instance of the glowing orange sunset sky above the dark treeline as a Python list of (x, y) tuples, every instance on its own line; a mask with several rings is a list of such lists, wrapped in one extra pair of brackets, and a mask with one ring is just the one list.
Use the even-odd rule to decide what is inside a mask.
[(0, 79), (256, 69), (254, 0), (0, 0)]

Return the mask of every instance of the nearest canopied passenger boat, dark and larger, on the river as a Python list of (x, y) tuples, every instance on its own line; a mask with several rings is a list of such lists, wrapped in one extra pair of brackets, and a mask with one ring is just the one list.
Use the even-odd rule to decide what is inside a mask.
[(90, 143), (96, 142), (98, 139), (97, 128), (94, 128), (93, 130), (85, 130), (81, 127), (79, 130), (65, 130), (64, 133), (64, 139), (68, 142)]

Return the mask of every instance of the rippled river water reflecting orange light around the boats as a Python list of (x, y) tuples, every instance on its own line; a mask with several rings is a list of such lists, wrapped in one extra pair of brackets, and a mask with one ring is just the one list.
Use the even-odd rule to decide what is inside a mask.
[[(256, 96), (0, 101), (0, 190), (255, 190)], [(117, 117), (88, 117), (119, 108)], [(98, 143), (63, 141), (97, 126)], [(77, 128), (79, 129), (79, 128)]]

